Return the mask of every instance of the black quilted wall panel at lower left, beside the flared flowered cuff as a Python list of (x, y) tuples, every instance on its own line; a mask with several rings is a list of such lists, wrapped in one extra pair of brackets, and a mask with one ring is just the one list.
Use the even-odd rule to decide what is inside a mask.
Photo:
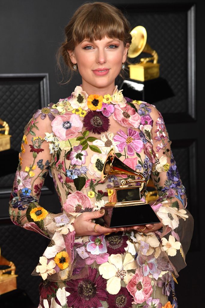
[[(0, 246), (1, 253), (7, 260), (16, 265), (17, 287), (25, 290), (30, 299), (38, 306), (38, 285), (40, 277), (31, 276), (38, 264), (49, 240), (37, 233), (22, 229), (11, 222), (1, 225)], [(26, 307), (24, 307), (26, 308)]]

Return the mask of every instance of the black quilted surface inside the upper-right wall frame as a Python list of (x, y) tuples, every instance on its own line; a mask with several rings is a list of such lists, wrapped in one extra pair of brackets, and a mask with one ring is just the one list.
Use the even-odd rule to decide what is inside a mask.
[[(187, 112), (187, 10), (140, 11), (125, 8), (132, 28), (141, 25), (147, 30), (147, 43), (159, 56), (160, 76), (168, 81), (175, 96), (156, 103), (162, 113)], [(151, 10), (151, 12), (150, 12)], [(148, 11), (148, 12), (147, 12)], [(141, 54), (134, 59), (139, 62)], [(132, 62), (132, 59), (130, 59)], [(136, 98), (137, 99), (137, 98)], [(150, 101), (149, 103), (152, 103)]]

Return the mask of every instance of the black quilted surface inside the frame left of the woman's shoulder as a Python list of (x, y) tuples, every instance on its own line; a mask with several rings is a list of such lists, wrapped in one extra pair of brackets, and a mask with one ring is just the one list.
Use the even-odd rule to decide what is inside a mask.
[[(11, 137), (11, 148), (20, 151), (21, 140), (25, 125), (34, 112), (47, 105), (41, 99), (47, 89), (41, 89), (41, 82), (45, 76), (38, 77), (1, 77), (0, 75), (0, 117), (9, 124)], [(48, 96), (48, 95), (47, 95)], [(9, 164), (6, 159), (5, 164)], [(17, 166), (16, 166), (17, 168)], [(16, 172), (0, 176), (0, 187), (11, 188), (13, 186)]]

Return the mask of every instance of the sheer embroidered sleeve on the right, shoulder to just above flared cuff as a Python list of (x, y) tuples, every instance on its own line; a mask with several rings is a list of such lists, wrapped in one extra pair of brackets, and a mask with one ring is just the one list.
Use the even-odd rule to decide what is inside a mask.
[(171, 141), (159, 111), (153, 111), (153, 150), (156, 153), (152, 169), (152, 180), (158, 191), (158, 201), (166, 201), (170, 206), (183, 209), (187, 206), (185, 188), (171, 152)]

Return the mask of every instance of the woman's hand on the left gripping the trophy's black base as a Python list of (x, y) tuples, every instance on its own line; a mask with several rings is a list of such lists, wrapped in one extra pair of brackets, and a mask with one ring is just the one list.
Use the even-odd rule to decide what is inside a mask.
[[(94, 212), (85, 212), (76, 217), (74, 222), (74, 228), (75, 228), (75, 236), (85, 236), (85, 235), (100, 235), (103, 233), (111, 233), (119, 231), (120, 229), (117, 228), (106, 228), (102, 227), (101, 225), (96, 225), (94, 222), (92, 222), (93, 219), (100, 218), (104, 215), (105, 211), (104, 209), (101, 209), (100, 211), (94, 211)], [(94, 231), (94, 226), (95, 230)]]

